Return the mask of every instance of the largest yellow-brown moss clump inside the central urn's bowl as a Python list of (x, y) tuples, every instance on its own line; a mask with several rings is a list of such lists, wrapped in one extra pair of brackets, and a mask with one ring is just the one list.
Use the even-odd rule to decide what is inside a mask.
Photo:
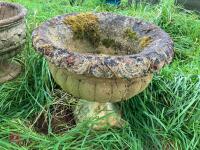
[(68, 16), (63, 21), (71, 26), (74, 38), (88, 39), (93, 46), (98, 46), (100, 42), (100, 31), (98, 18), (92, 13), (80, 13)]

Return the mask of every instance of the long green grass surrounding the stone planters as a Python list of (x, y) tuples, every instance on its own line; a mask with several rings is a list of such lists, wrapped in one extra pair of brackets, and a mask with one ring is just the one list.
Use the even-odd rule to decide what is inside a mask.
[[(200, 17), (162, 0), (150, 6), (139, 4), (119, 8), (100, 0), (85, 0), (71, 6), (67, 0), (6, 0), (28, 8), (27, 42), (15, 59), (23, 73), (14, 81), (0, 85), (0, 149), (200, 149)], [(31, 33), (40, 23), (60, 14), (110, 11), (153, 22), (174, 40), (173, 62), (154, 75), (150, 86), (138, 96), (122, 102), (124, 129), (95, 132), (79, 124), (63, 134), (48, 135), (32, 127), (33, 118), (45, 112), (58, 99), (57, 85), (42, 56), (32, 47)], [(20, 144), (10, 142), (11, 134), (20, 135)]]

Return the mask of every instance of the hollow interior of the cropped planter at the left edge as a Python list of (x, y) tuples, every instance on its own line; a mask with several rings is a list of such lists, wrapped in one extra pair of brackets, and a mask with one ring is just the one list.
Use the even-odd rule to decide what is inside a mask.
[(19, 10), (7, 4), (0, 3), (0, 20), (6, 20), (19, 14)]

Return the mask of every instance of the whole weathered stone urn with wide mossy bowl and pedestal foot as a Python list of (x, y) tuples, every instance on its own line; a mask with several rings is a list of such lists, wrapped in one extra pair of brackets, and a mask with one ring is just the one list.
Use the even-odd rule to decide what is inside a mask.
[(33, 45), (60, 87), (82, 99), (77, 121), (104, 117), (95, 129), (121, 127), (114, 103), (142, 92), (173, 57), (173, 42), (159, 27), (112, 13), (55, 17), (35, 29)]

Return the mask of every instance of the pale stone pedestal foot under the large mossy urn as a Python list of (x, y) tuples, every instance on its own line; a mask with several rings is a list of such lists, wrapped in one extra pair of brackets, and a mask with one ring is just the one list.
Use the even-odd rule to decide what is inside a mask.
[(98, 103), (87, 100), (79, 100), (74, 110), (77, 123), (92, 119), (89, 124), (94, 130), (105, 128), (121, 128), (125, 121), (121, 118), (121, 113), (113, 103)]

